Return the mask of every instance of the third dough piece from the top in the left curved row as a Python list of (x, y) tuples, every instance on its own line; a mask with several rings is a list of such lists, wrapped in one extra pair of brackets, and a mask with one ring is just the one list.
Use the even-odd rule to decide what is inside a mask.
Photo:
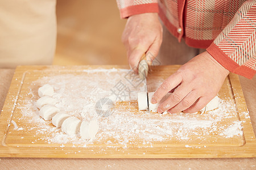
[(52, 117), (57, 114), (58, 112), (60, 112), (60, 109), (58, 109), (57, 107), (55, 107), (55, 105), (52, 104), (46, 104), (44, 105), (40, 111), (39, 111), (39, 115), (41, 117), (44, 118), (44, 120), (51, 120)]

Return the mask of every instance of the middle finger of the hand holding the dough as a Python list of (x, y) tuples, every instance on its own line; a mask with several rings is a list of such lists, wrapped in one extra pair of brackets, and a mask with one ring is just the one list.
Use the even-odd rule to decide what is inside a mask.
[[(181, 104), (181, 108), (184, 108), (183, 104), (184, 104), (184, 97), (187, 96), (190, 92), (192, 91), (191, 87), (188, 86), (188, 84), (181, 84), (175, 91), (173, 94), (171, 94), (167, 100), (165, 100), (162, 104), (159, 105), (158, 107), (158, 112), (162, 113), (164, 111), (167, 111), (173, 107), (175, 107), (175, 105), (183, 102)], [(193, 96), (192, 96), (193, 97)], [(193, 104), (195, 101), (193, 101), (193, 99), (189, 99), (190, 101), (187, 101), (188, 99), (185, 99), (186, 105), (189, 104)], [(193, 103), (192, 103), (193, 102)], [(187, 107), (188, 108), (188, 107)]]

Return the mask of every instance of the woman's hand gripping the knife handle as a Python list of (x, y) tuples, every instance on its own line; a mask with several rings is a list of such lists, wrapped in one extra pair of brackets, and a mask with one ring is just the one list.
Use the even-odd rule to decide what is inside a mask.
[(163, 27), (157, 13), (130, 16), (123, 31), (122, 42), (126, 47), (131, 69), (138, 73), (139, 61), (144, 53), (148, 65), (151, 65), (158, 55), (162, 39)]

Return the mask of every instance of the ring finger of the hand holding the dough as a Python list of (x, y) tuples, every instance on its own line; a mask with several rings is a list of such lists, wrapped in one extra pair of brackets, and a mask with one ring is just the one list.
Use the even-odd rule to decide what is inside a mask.
[(168, 113), (180, 113), (181, 111), (191, 107), (197, 101), (197, 99), (199, 99), (199, 95), (195, 90), (192, 90), (187, 96), (184, 97), (183, 100), (180, 101), (180, 103), (169, 109)]

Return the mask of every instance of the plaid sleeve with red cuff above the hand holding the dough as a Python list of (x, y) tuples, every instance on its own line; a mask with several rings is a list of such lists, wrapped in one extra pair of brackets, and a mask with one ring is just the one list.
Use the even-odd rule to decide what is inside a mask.
[(207, 48), (232, 73), (253, 78), (256, 73), (256, 0), (246, 1)]

